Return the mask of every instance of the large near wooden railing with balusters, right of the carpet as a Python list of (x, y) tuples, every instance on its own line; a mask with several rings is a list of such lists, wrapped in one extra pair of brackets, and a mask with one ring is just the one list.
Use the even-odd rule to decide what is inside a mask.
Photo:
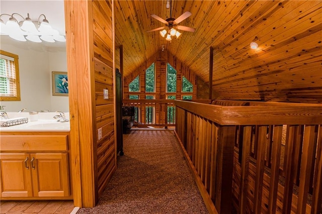
[(208, 210), (321, 213), (322, 105), (213, 103), (175, 101), (176, 135)]

